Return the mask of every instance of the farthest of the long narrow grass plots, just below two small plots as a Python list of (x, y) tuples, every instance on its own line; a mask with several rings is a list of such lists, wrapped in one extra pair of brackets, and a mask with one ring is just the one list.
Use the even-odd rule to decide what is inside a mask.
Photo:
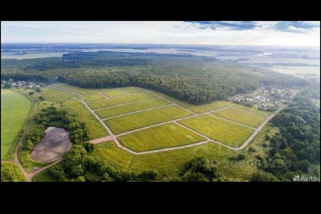
[(151, 93), (143, 93), (143, 94), (132, 94), (121, 97), (110, 98), (106, 100), (98, 100), (95, 102), (88, 103), (89, 107), (92, 109), (100, 109), (104, 107), (114, 106), (118, 104), (129, 103), (133, 101), (140, 101), (155, 98), (156, 96)]

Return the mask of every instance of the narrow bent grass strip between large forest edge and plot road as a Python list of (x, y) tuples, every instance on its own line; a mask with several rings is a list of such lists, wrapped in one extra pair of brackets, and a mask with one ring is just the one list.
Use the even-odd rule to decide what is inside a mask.
[[(152, 91), (152, 90), (149, 90), (149, 91)], [(216, 110), (216, 109), (220, 109), (220, 108), (225, 108), (225, 107), (228, 107), (228, 106), (234, 106), (234, 107), (237, 107), (237, 108), (241, 108), (241, 109), (244, 109), (244, 110), (247, 110), (247, 111), (250, 111), (250, 112), (253, 112), (253, 113), (256, 113), (256, 114), (260, 114), (260, 115), (263, 115), (263, 116), (269, 116), (270, 113), (269, 112), (266, 112), (266, 111), (261, 111), (261, 110), (258, 110), (257, 108), (255, 107), (247, 107), (247, 106), (244, 106), (244, 105), (240, 105), (240, 104), (237, 104), (237, 103), (233, 103), (233, 102), (229, 102), (229, 101), (215, 101), (215, 102), (212, 102), (212, 103), (208, 103), (208, 104), (203, 104), (203, 105), (193, 105), (193, 104), (189, 104), (187, 102), (184, 102), (184, 101), (181, 101), (181, 100), (178, 100), (174, 97), (170, 97), (168, 95), (165, 95), (163, 93), (159, 93), (159, 92), (156, 92), (156, 91), (152, 91), (153, 93), (161, 96), (161, 97), (164, 97), (168, 100), (171, 100), (172, 102), (174, 103), (177, 103), (197, 114), (202, 114), (202, 113), (205, 113), (205, 112), (209, 112), (209, 111), (213, 111), (213, 110)]]

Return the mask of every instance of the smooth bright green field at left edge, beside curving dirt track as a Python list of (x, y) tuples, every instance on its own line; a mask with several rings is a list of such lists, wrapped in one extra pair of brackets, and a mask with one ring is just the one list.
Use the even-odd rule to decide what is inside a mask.
[(1, 159), (13, 160), (18, 134), (26, 125), (31, 102), (14, 90), (1, 90)]

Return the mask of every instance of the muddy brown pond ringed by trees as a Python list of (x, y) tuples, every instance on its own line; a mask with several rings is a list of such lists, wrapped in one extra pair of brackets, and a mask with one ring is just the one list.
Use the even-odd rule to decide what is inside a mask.
[(43, 163), (58, 160), (71, 148), (68, 132), (63, 128), (48, 127), (45, 137), (34, 146), (31, 158)]

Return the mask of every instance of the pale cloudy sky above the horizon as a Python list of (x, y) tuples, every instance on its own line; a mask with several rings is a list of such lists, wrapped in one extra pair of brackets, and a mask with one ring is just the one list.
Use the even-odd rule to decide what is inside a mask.
[(320, 46), (320, 22), (1, 22), (2, 43)]

